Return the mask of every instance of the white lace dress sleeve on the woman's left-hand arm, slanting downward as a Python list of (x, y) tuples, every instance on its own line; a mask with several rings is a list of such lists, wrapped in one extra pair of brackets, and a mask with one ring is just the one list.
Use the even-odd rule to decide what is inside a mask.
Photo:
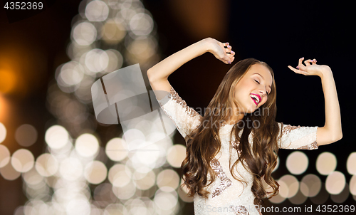
[[(157, 99), (157, 98), (156, 98)], [(201, 115), (190, 108), (178, 93), (171, 87), (170, 92), (157, 100), (164, 113), (174, 122), (179, 133), (185, 138), (200, 125)]]

